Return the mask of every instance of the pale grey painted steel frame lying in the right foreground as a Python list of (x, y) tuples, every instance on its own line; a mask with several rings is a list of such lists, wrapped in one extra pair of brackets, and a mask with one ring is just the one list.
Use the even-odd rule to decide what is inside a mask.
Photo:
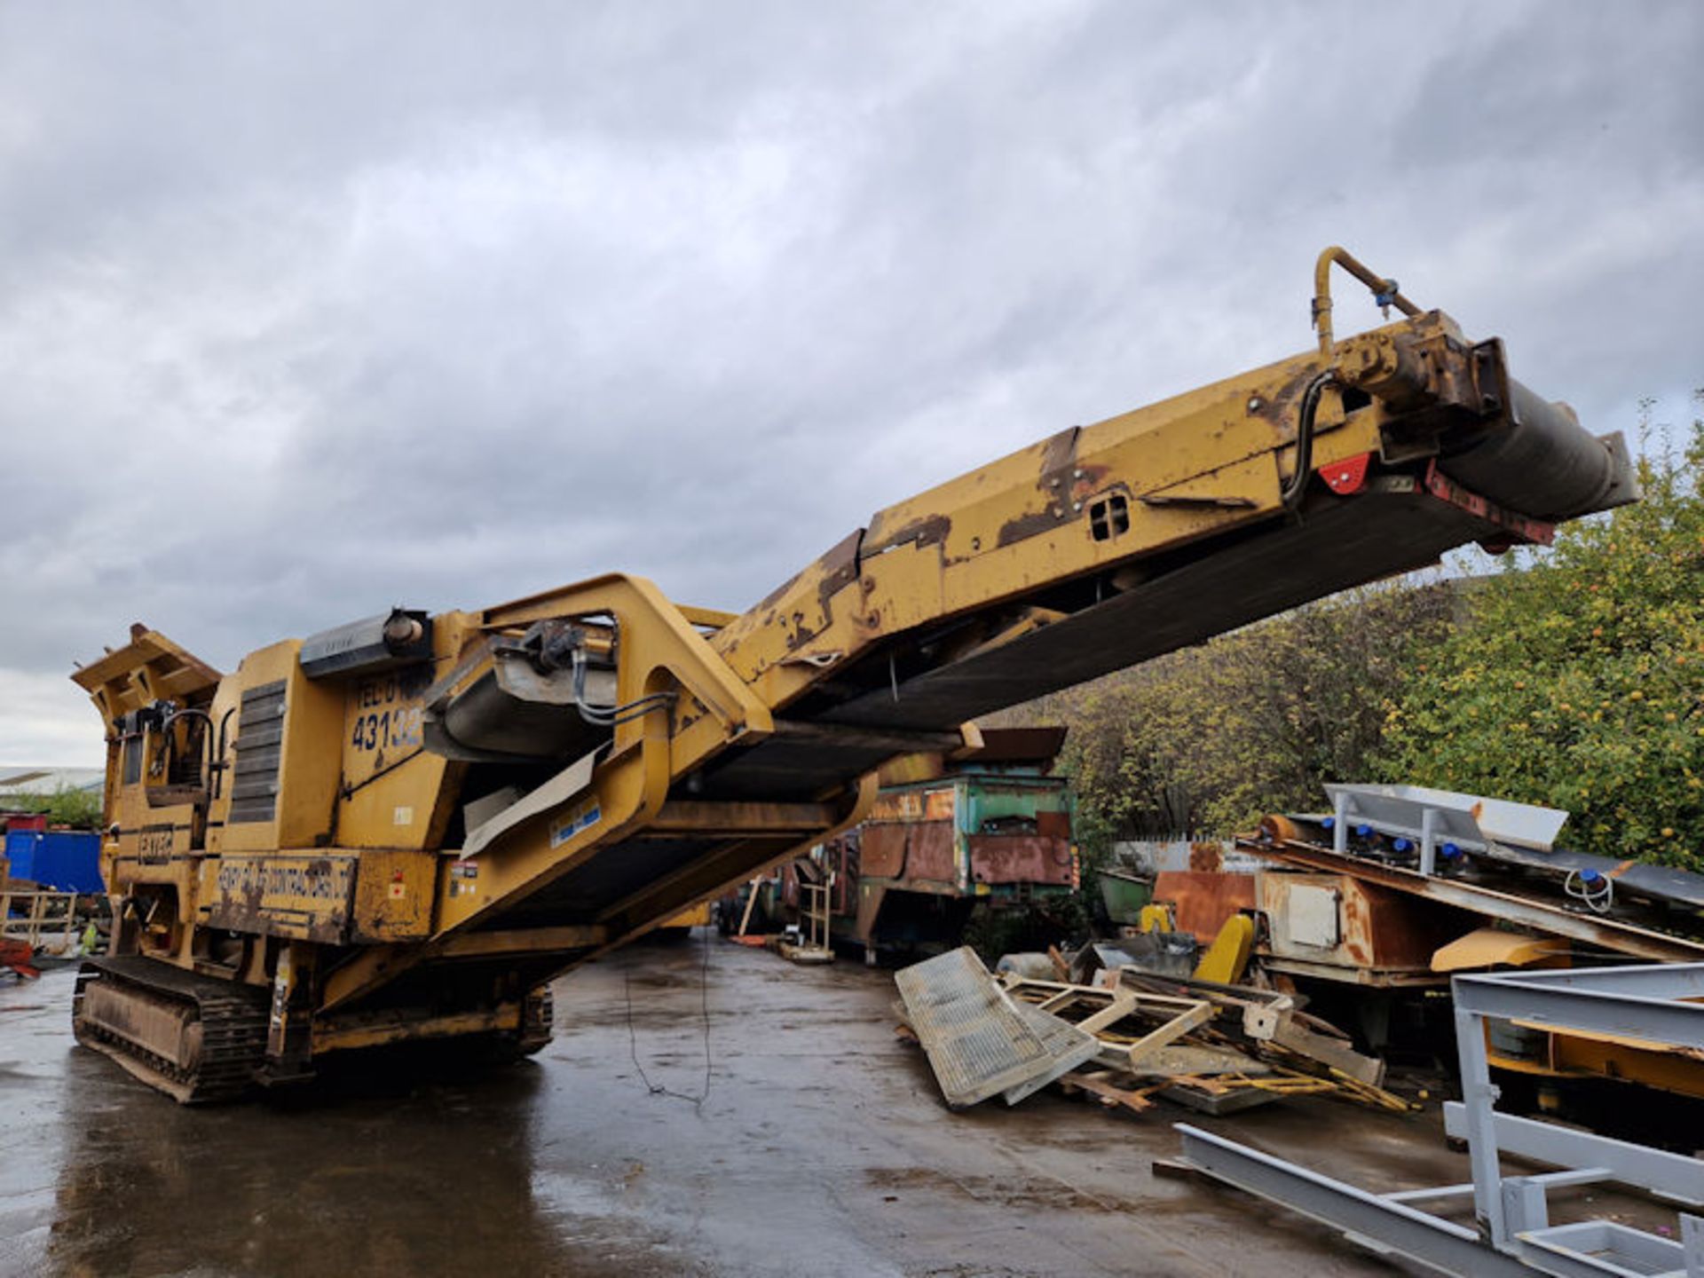
[[(1621, 1181), (1695, 1205), (1704, 1201), (1704, 1162), (1498, 1114), (1484, 1026), (1518, 1019), (1704, 1051), (1704, 1004), (1684, 1002), (1704, 999), (1704, 963), (1455, 976), (1452, 987), (1462, 1102), (1445, 1118), (1467, 1137), (1472, 1183), (1373, 1195), (1179, 1123), (1184, 1162), (1440, 1273), (1704, 1278), (1704, 1218), (1680, 1213), (1678, 1242), (1610, 1220), (1549, 1223), (1549, 1189), (1569, 1184)], [(1503, 1150), (1563, 1171), (1505, 1176)], [(1411, 1206), (1467, 1195), (1477, 1230)]]

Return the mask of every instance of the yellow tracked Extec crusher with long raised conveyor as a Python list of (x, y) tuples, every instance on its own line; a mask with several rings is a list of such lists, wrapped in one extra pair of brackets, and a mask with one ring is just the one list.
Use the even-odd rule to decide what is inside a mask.
[[(1333, 262), (1402, 319), (1334, 341)], [(135, 627), (75, 675), (118, 910), (80, 1041), (182, 1101), (402, 1039), (537, 1050), (552, 976), (855, 823), (976, 716), (1636, 498), (1619, 436), (1348, 254), (1314, 314), (1315, 349), (878, 511), (740, 615), (612, 574), (228, 675)]]

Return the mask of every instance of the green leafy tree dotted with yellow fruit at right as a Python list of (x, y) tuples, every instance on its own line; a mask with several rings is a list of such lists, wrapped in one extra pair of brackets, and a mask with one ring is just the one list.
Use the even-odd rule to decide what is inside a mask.
[(1684, 448), (1643, 435), (1641, 503), (1467, 591), (1387, 705), (1382, 772), (1566, 808), (1571, 847), (1704, 869), (1704, 423)]

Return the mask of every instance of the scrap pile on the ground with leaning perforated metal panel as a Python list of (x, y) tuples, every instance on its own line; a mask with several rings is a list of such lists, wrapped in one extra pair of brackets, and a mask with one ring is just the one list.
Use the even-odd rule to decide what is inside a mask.
[(995, 976), (961, 947), (901, 970), (901, 1033), (929, 1055), (947, 1108), (1048, 1084), (1143, 1113), (1157, 1099), (1227, 1114), (1287, 1096), (1331, 1094), (1408, 1111), (1384, 1063), (1302, 1010), (1293, 995), (1133, 966), (1096, 983)]

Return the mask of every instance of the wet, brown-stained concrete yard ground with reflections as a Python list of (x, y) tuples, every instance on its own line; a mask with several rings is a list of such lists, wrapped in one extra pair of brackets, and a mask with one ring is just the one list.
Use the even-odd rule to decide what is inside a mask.
[[(707, 946), (707, 947), (705, 947)], [(709, 1096), (700, 1096), (709, 963)], [(0, 1275), (1390, 1275), (1251, 1198), (1155, 1179), (1189, 1120), (1373, 1189), (1465, 1179), (1433, 1118), (1234, 1120), (1055, 1094), (947, 1113), (891, 973), (697, 937), (557, 985), (533, 1062), (385, 1062), (184, 1109), (77, 1048), (72, 971), (0, 983)], [(632, 1038), (629, 1038), (629, 997)]]

